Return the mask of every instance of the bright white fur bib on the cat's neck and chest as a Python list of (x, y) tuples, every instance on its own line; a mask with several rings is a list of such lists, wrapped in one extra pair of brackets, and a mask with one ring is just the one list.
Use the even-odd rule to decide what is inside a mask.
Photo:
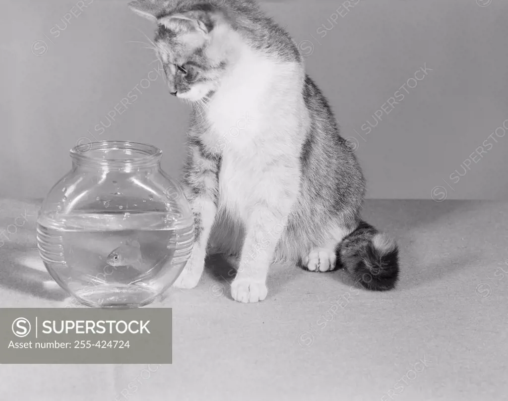
[(288, 102), (287, 95), (279, 96), (277, 90), (288, 86), (299, 90), (293, 84), (296, 71), (241, 46), (238, 60), (211, 98), (206, 113), (210, 129), (201, 140), (223, 154), (219, 207), (245, 221), (258, 203), (277, 209), (281, 197), (296, 199), (303, 132), (292, 116), (300, 105)]

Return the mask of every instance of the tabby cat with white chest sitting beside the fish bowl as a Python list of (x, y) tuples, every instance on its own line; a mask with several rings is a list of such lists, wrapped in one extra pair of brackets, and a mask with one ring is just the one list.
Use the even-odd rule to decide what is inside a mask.
[(213, 243), (238, 256), (231, 296), (243, 303), (266, 298), (279, 261), (394, 288), (398, 247), (361, 220), (362, 170), (288, 32), (253, 0), (129, 6), (157, 25), (169, 91), (192, 106), (182, 185), (195, 243), (174, 285), (198, 284)]

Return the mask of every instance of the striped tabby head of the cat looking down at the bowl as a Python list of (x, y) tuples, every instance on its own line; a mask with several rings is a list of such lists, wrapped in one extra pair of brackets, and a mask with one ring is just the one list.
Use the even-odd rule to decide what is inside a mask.
[(157, 24), (154, 45), (170, 93), (190, 102), (211, 96), (228, 64), (228, 51), (218, 40), (225, 34), (225, 25), (217, 5), (137, 0), (129, 7)]

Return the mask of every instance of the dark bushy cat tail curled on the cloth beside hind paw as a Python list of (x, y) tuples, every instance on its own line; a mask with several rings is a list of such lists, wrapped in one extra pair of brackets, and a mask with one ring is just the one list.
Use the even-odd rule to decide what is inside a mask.
[(335, 248), (336, 268), (345, 269), (363, 287), (387, 291), (399, 277), (399, 249), (395, 241), (365, 221)]

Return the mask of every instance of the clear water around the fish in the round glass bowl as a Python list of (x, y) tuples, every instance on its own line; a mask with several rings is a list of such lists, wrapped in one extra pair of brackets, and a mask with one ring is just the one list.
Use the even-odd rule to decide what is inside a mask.
[[(129, 308), (151, 303), (176, 280), (194, 229), (166, 212), (73, 211), (40, 216), (37, 237), (48, 272), (81, 303)], [(122, 265), (108, 263), (114, 250)]]

